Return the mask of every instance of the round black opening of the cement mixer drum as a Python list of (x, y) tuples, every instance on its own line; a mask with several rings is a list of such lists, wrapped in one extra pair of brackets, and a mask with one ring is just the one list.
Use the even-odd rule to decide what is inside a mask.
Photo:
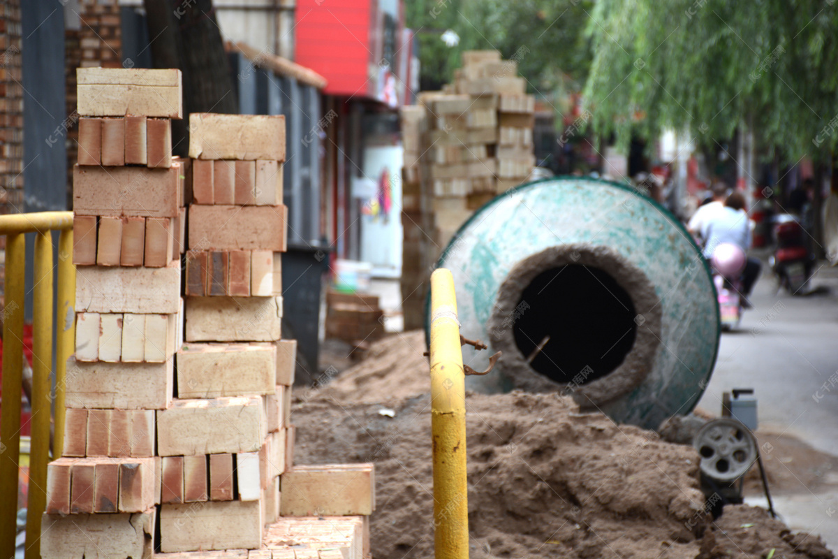
[(517, 309), (513, 331), (521, 355), (561, 384), (608, 375), (634, 346), (631, 297), (599, 268), (569, 264), (541, 272)]

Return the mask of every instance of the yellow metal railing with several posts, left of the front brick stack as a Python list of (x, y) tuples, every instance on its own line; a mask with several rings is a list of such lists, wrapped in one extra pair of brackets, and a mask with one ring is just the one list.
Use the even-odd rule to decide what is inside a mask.
[(39, 559), (41, 516), (46, 507), (49, 427), (52, 413), (53, 245), (59, 230), (58, 334), (55, 347), (53, 456), (64, 448), (65, 377), (75, 342), (73, 212), (46, 211), (0, 216), (6, 236), (6, 307), (3, 310), (3, 406), (0, 416), (0, 556), (14, 556), (18, 513), (20, 393), (23, 387), (23, 296), (25, 233), (35, 233), (32, 357), (32, 446), (29, 458), (26, 559)]

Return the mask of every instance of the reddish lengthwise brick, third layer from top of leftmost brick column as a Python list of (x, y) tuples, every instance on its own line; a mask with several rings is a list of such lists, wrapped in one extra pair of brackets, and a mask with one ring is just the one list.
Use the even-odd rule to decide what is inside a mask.
[(177, 217), (184, 197), (184, 163), (168, 169), (73, 168), (73, 211), (77, 215)]

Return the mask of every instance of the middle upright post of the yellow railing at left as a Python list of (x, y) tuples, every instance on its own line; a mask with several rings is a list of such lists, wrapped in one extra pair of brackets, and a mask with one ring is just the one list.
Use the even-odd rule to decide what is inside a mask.
[(26, 514), (26, 559), (40, 559), (41, 516), (46, 508), (51, 415), (49, 370), (52, 367), (53, 260), (49, 230), (35, 236), (32, 309), (32, 447)]

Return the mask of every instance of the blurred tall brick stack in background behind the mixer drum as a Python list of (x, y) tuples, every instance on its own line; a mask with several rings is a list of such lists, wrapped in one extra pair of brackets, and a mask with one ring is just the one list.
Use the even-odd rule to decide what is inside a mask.
[(405, 329), (422, 328), (427, 277), (454, 233), (535, 166), (535, 98), (525, 86), (515, 60), (465, 51), (453, 84), (401, 111)]

